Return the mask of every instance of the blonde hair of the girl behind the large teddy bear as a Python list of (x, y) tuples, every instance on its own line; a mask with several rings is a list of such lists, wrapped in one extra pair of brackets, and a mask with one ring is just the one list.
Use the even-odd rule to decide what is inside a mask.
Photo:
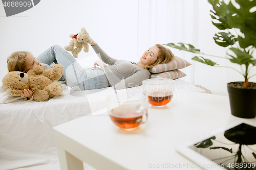
[(7, 58), (7, 67), (10, 71), (26, 72), (26, 55), (28, 52), (14, 52)]

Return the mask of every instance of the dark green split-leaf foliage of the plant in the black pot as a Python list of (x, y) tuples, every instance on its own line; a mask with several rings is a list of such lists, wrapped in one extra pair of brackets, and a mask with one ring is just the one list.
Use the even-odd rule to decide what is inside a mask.
[[(256, 6), (256, 0), (236, 0), (236, 3), (240, 6), (239, 8), (236, 8), (231, 1), (225, 4), (220, 0), (208, 0), (208, 3), (212, 5), (212, 10), (210, 10), (212, 24), (219, 30), (226, 31), (214, 35), (215, 43), (223, 47), (229, 47), (229, 50), (235, 54), (227, 53), (229, 58), (226, 58), (230, 62), (245, 65), (245, 71), (242, 72), (244, 72), (243, 76), (246, 81), (250, 70), (249, 65), (256, 66), (256, 59), (252, 57), (256, 47), (256, 11), (250, 12), (251, 8)], [(237, 31), (240, 35), (232, 35), (229, 29), (238, 29), (241, 33)], [(204, 54), (191, 44), (179, 42), (165, 45), (191, 53)], [(210, 66), (218, 65), (216, 62), (203, 57), (195, 56), (192, 59)]]

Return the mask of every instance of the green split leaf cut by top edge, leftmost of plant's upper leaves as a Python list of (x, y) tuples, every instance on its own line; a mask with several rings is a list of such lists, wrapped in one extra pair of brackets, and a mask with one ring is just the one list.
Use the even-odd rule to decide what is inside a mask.
[(218, 22), (212, 21), (212, 24), (220, 30), (231, 29), (232, 27), (228, 24), (226, 17), (227, 4), (219, 0), (208, 0), (208, 2), (212, 5), (213, 9), (210, 12), (214, 14), (210, 14), (211, 18), (218, 20)]

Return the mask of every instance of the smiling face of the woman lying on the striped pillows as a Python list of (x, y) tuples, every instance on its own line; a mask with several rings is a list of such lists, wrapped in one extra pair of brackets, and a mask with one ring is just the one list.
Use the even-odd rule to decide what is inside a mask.
[(154, 64), (157, 60), (158, 54), (159, 48), (154, 45), (144, 52), (144, 54), (140, 57), (140, 62), (144, 65)]

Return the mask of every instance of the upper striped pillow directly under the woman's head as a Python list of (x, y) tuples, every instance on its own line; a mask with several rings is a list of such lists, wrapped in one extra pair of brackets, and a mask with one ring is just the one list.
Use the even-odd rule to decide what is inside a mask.
[(170, 60), (167, 63), (158, 64), (158, 65), (150, 68), (150, 70), (152, 73), (158, 73), (158, 72), (164, 72), (164, 71), (169, 71), (169, 70), (185, 68), (189, 65), (191, 65), (191, 64), (189, 62), (187, 62), (186, 60), (175, 56), (175, 58), (173, 60)]

